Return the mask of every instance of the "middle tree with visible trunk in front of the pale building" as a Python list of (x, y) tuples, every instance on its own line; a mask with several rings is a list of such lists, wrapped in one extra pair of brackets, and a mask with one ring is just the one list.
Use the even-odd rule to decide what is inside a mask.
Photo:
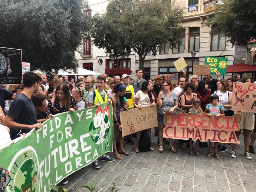
[(134, 50), (143, 69), (148, 52), (155, 56), (161, 45), (181, 43), (182, 19), (168, 0), (112, 0), (106, 13), (92, 18), (91, 36), (110, 58), (128, 57)]

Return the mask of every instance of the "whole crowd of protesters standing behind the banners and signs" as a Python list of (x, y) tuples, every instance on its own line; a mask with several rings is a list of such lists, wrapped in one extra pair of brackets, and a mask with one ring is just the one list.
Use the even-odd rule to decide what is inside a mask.
[[(26, 72), (23, 75), (22, 84), (8, 85), (0, 89), (0, 146), (12, 139), (23, 136), (33, 128), (41, 128), (41, 123), (53, 115), (63, 112), (74, 112), (86, 107), (99, 106), (107, 102), (113, 106), (114, 116), (114, 138), (113, 156), (101, 156), (101, 161), (113, 162), (115, 159), (124, 159), (122, 155), (129, 155), (124, 149), (124, 142), (134, 144), (131, 136), (122, 137), (122, 125), (120, 112), (124, 110), (144, 106), (157, 106), (158, 127), (155, 128), (155, 135), (158, 136), (158, 152), (164, 150), (163, 143), (168, 143), (170, 151), (175, 153), (174, 139), (163, 138), (164, 113), (190, 113), (196, 115), (205, 112), (209, 116), (232, 116), (232, 89), (233, 82), (253, 83), (250, 77), (240, 78), (239, 75), (229, 79), (221, 79), (219, 72), (216, 72), (217, 79), (210, 75), (204, 75), (198, 80), (197, 75), (192, 75), (189, 80), (181, 76), (178, 85), (173, 85), (170, 80), (163, 76), (155, 76), (154, 79), (145, 80), (142, 78), (142, 69), (135, 71), (136, 78), (124, 74), (121, 77), (109, 77), (107, 74), (99, 75), (95, 80), (93, 76), (80, 76), (78, 80), (69, 79), (68, 76), (55, 75), (48, 82), (47, 76)], [(250, 153), (254, 153), (253, 145), (256, 139), (255, 114), (243, 112), (240, 122), (241, 130), (236, 131), (237, 139), (241, 133), (244, 135), (244, 156), (252, 159)], [(243, 132), (242, 132), (243, 131)], [(151, 136), (151, 129), (146, 130)], [(138, 148), (141, 131), (136, 134), (135, 152), (140, 153)], [(250, 140), (251, 138), (251, 140)], [(154, 143), (154, 142), (152, 142)], [(193, 147), (192, 139), (178, 140), (180, 150), (188, 150), (189, 155), (200, 156), (200, 148), (209, 148), (208, 157), (220, 159), (218, 152), (226, 152), (226, 143), (212, 143), (196, 141)], [(232, 144), (231, 144), (232, 145)], [(230, 153), (236, 158), (237, 144), (233, 144)], [(150, 147), (151, 151), (155, 149)], [(213, 153), (214, 151), (214, 153)], [(195, 153), (194, 153), (195, 152)], [(249, 153), (250, 152), (250, 153)], [(98, 169), (98, 160), (92, 163), (93, 168)], [(62, 181), (67, 183), (68, 179)]]

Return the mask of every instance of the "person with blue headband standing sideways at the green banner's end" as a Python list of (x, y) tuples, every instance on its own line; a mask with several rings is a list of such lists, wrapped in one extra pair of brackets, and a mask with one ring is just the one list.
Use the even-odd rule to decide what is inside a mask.
[[(113, 150), (114, 154), (113, 157), (116, 159), (124, 159), (119, 153), (124, 155), (129, 155), (128, 152), (124, 150), (124, 137), (122, 137), (122, 126), (121, 126), (121, 120), (120, 120), (120, 112), (124, 110), (125, 108), (125, 91), (126, 87), (122, 83), (117, 83), (115, 85), (115, 93), (111, 97), (112, 105), (113, 105), (113, 116), (114, 116), (114, 139), (113, 139)], [(118, 130), (119, 130), (119, 153), (117, 152), (116, 147), (116, 139), (118, 137)]]

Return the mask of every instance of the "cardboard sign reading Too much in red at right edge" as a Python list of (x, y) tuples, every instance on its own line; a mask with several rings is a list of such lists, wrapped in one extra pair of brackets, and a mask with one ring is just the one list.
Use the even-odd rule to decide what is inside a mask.
[(256, 84), (233, 82), (232, 110), (256, 112)]

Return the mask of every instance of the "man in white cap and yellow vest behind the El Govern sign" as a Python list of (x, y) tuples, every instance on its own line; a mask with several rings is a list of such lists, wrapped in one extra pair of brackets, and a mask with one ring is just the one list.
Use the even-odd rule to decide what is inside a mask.
[[(134, 105), (133, 105), (133, 100), (134, 100), (134, 89), (132, 85), (129, 85), (129, 75), (124, 74), (122, 75), (122, 82), (124, 83), (125, 87), (126, 87), (126, 91), (125, 91), (125, 98), (127, 99), (127, 102), (129, 104), (129, 107), (127, 107), (127, 109), (133, 109)], [(128, 142), (131, 145), (134, 145), (133, 140), (130, 138), (130, 136), (126, 136), (125, 141)]]

